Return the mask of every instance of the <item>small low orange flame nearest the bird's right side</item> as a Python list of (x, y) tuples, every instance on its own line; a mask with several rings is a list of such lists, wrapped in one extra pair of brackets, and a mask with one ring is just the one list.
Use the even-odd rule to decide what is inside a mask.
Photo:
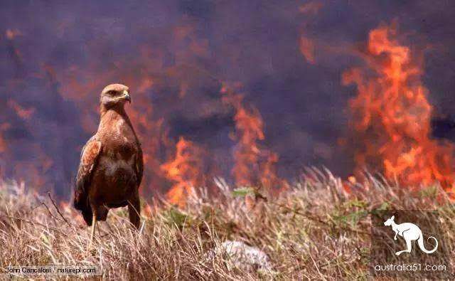
[(194, 188), (203, 184), (201, 154), (196, 144), (180, 137), (175, 158), (161, 165), (166, 178), (175, 183), (166, 193), (169, 202), (184, 206)]

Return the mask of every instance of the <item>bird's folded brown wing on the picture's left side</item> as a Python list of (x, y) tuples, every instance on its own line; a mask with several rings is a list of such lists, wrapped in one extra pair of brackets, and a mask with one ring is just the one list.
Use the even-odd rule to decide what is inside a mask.
[(73, 203), (75, 208), (81, 210), (82, 213), (90, 209), (87, 197), (90, 180), (92, 179), (92, 171), (97, 164), (100, 152), (101, 142), (97, 139), (96, 134), (88, 140), (87, 144), (82, 147), (82, 152), (80, 152), (80, 164), (79, 170), (77, 171)]

